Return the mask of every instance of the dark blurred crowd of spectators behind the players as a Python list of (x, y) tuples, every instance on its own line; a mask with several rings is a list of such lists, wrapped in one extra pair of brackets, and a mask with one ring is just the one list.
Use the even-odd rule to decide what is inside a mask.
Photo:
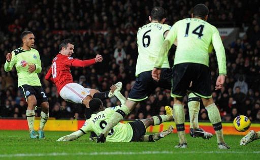
[[(217, 27), (245, 28), (246, 34), (226, 47), (227, 69), (225, 87), (214, 91), (216, 55), (210, 56), (213, 99), (223, 121), (232, 121), (239, 114), (260, 121), (260, 6), (254, 1), (1, 1), (0, 2), (0, 117), (26, 118), (26, 102), (17, 89), (17, 73), (4, 71), (6, 54), (20, 47), (20, 34), (30, 30), (36, 37), (35, 49), (41, 56), (40, 79), (50, 104), (50, 117), (84, 118), (85, 108), (63, 101), (53, 84), (44, 79), (52, 58), (58, 53), (61, 40), (76, 42), (74, 58), (88, 59), (102, 54), (103, 62), (86, 68), (72, 68), (74, 81), (88, 88), (107, 91), (111, 84), (123, 83), (121, 92), (127, 97), (135, 80), (138, 57), (136, 33), (148, 23), (153, 6), (166, 9), (166, 23), (190, 17), (191, 7), (198, 3), (209, 9), (209, 22)], [(171, 65), (174, 58), (170, 50)], [(184, 99), (188, 120), (187, 99)], [(104, 106), (117, 105), (116, 98), (104, 101)], [(170, 91), (157, 88), (147, 101), (141, 102), (128, 119), (164, 114), (164, 106), (173, 106)], [(38, 116), (40, 110), (37, 110)], [(200, 120), (208, 120), (201, 106)]]

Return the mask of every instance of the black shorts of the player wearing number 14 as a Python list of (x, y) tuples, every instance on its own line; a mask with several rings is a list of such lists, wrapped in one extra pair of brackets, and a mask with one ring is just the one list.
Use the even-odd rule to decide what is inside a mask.
[[(209, 67), (198, 63), (180, 63), (173, 68), (172, 97), (183, 97), (187, 90), (202, 98), (211, 98)], [(192, 86), (189, 87), (190, 82)]]

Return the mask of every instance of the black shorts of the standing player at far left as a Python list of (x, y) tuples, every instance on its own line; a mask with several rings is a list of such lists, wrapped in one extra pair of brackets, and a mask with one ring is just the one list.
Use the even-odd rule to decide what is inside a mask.
[(27, 102), (27, 98), (30, 95), (35, 95), (37, 100), (37, 106), (41, 105), (43, 102), (48, 102), (48, 98), (42, 88), (42, 86), (30, 86), (27, 84), (21, 85), (19, 87), (20, 93), (23, 95)]

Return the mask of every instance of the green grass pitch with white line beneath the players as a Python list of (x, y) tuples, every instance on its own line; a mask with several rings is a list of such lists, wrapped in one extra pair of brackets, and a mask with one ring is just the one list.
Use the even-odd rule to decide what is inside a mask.
[(225, 136), (229, 150), (217, 148), (216, 137), (210, 140), (186, 135), (188, 148), (174, 148), (177, 134), (157, 142), (97, 144), (89, 135), (71, 141), (56, 140), (71, 132), (45, 132), (46, 139), (30, 139), (27, 131), (0, 131), (0, 159), (259, 159), (260, 140), (239, 146), (242, 136)]

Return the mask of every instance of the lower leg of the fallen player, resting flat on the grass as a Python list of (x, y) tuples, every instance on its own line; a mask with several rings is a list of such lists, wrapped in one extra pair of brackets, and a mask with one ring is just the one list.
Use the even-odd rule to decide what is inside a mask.
[(139, 141), (141, 142), (155, 142), (160, 140), (161, 138), (165, 138), (166, 136), (173, 133), (173, 126), (170, 125), (167, 130), (152, 134), (152, 135), (143, 135)]

